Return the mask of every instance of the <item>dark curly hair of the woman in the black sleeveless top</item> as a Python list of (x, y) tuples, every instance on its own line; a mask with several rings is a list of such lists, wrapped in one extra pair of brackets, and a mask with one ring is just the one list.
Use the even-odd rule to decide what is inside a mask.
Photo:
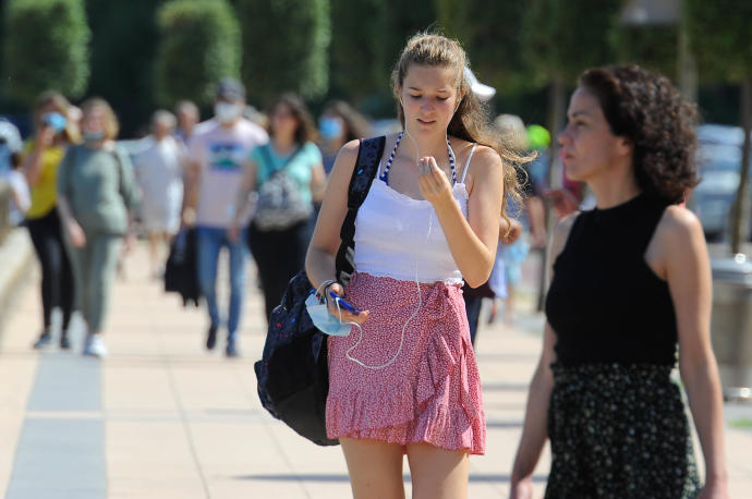
[(580, 86), (598, 99), (611, 133), (632, 143), (640, 188), (668, 204), (684, 200), (698, 184), (694, 105), (667, 77), (638, 65), (586, 70)]

